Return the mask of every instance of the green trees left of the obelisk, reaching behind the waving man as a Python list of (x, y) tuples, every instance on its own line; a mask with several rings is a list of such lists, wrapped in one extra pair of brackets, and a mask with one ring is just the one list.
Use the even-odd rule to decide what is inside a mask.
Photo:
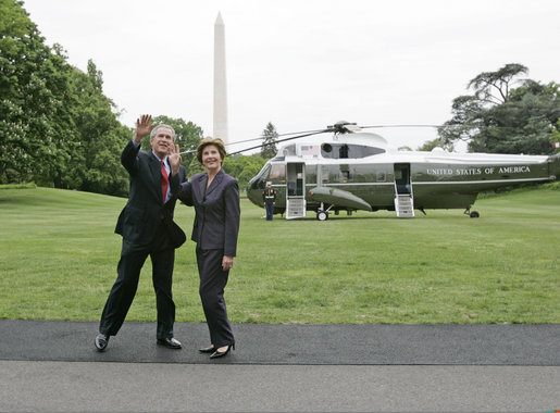
[[(92, 61), (84, 73), (67, 63), (61, 46), (45, 43), (22, 1), (0, 0), (0, 184), (33, 180), (125, 196), (120, 154), (133, 129), (119, 122), (102, 86)], [(202, 136), (190, 122), (154, 121), (175, 128), (182, 150), (196, 148)]]

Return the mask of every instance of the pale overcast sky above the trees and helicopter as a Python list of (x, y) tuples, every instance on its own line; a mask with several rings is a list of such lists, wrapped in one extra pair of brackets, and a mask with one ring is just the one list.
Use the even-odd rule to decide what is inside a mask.
[[(507, 63), (560, 82), (558, 0), (25, 0), (47, 42), (86, 71), (133, 127), (142, 113), (212, 135), (214, 23), (225, 23), (229, 140), (345, 120), (441, 124), (482, 72)], [(381, 128), (415, 149), (431, 128)], [(231, 151), (240, 149), (231, 147)]]

